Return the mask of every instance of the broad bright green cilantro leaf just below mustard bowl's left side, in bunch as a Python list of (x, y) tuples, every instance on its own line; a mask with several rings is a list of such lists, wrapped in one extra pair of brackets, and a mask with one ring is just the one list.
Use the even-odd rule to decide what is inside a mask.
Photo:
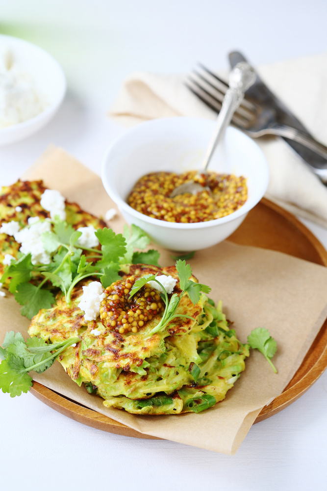
[(111, 228), (99, 228), (95, 232), (101, 244), (102, 259), (97, 263), (99, 268), (104, 268), (110, 263), (117, 263), (120, 257), (126, 253), (126, 242), (122, 234), (115, 234)]

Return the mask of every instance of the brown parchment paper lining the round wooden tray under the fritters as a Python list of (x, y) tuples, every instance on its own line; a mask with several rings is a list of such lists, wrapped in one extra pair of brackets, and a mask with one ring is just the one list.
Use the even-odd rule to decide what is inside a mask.
[[(23, 176), (43, 179), (70, 201), (98, 216), (116, 208), (104, 191), (101, 179), (60, 148), (50, 147)], [(110, 222), (121, 232), (124, 221)], [(162, 266), (172, 264), (161, 250)], [(33, 379), (50, 389), (145, 434), (226, 454), (234, 454), (260, 410), (291, 380), (327, 316), (327, 268), (293, 256), (227, 241), (198, 251), (190, 261), (193, 273), (212, 287), (210, 294), (222, 300), (227, 318), (234, 321), (237, 335), (246, 342), (254, 327), (267, 327), (277, 340), (276, 375), (264, 357), (252, 351), (246, 370), (226, 399), (200, 414), (169, 416), (131, 415), (106, 409), (101, 398), (78, 387), (54, 363)], [(27, 335), (28, 319), (9, 294), (0, 298), (0, 342), (7, 330)]]

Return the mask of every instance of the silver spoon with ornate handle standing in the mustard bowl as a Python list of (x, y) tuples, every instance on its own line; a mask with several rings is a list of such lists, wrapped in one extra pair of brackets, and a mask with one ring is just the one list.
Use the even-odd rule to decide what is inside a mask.
[[(256, 75), (253, 71), (252, 66), (245, 61), (237, 63), (237, 65), (235, 65), (234, 68), (231, 70), (229, 74), (229, 88), (226, 91), (225, 97), (223, 99), (222, 109), (218, 114), (215, 131), (209, 142), (202, 164), (203, 170), (201, 171), (201, 174), (207, 173), (207, 167), (216, 149), (216, 146), (219, 140), (224, 135), (234, 112), (241, 104), (244, 98), (244, 92), (252, 85), (255, 77)], [(170, 197), (174, 198), (178, 194), (183, 194), (184, 192), (196, 194), (197, 192), (203, 191), (204, 189), (209, 190), (209, 188), (203, 188), (201, 184), (195, 183), (192, 180), (188, 183), (177, 186), (177, 188), (172, 191)]]

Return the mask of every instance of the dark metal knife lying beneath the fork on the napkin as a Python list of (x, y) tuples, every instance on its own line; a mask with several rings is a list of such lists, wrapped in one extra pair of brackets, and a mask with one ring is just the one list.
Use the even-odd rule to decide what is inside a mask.
[[(229, 63), (233, 68), (240, 61), (247, 61), (247, 59), (238, 51), (229, 53)], [(248, 61), (247, 61), (248, 62)], [(249, 63), (249, 62), (248, 62)], [(269, 107), (275, 112), (275, 119), (277, 123), (286, 124), (292, 126), (308, 136), (313, 136), (302, 125), (301, 121), (281, 102), (275, 94), (262, 82), (259, 75), (256, 74), (256, 79), (251, 87), (246, 91), (246, 98), (262, 107)], [(302, 158), (302, 160), (311, 168), (311, 170), (317, 174), (317, 176), (327, 184), (327, 161), (320, 155), (316, 154), (312, 150), (304, 147), (301, 143), (293, 141), (289, 138), (282, 137), (295, 152)]]

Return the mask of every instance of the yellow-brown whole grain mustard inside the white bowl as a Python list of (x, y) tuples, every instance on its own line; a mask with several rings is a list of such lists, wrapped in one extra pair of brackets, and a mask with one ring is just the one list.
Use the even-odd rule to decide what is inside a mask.
[[(200, 183), (203, 191), (170, 197), (177, 186), (191, 180)], [(210, 192), (204, 189), (205, 186), (210, 188)], [(215, 172), (199, 175), (197, 171), (183, 174), (152, 172), (137, 181), (127, 203), (148, 217), (196, 223), (230, 215), (246, 202), (247, 197), (246, 178), (242, 176)]]

